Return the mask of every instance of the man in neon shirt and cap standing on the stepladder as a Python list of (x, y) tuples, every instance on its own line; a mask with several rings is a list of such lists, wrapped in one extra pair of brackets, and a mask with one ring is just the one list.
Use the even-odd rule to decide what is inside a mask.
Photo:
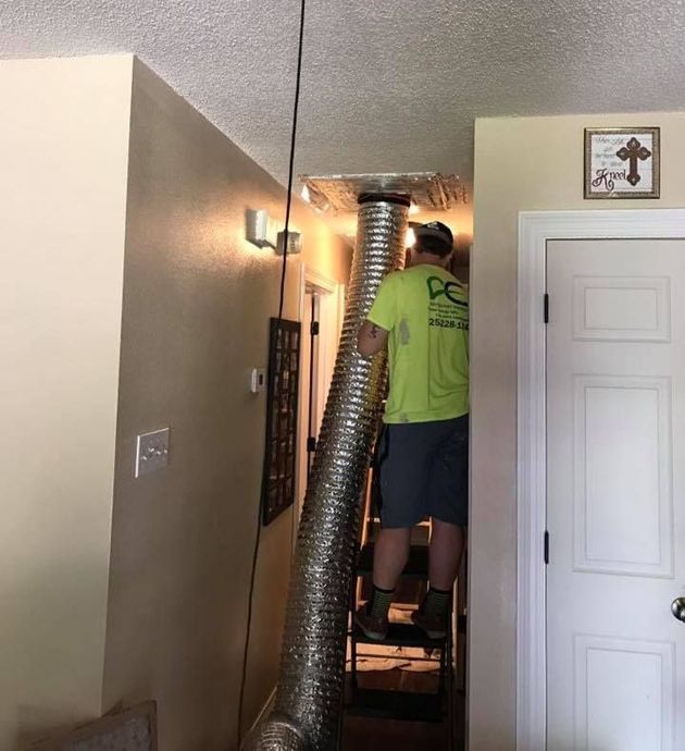
[(354, 616), (377, 640), (387, 637), (411, 529), (425, 517), (432, 519), (429, 589), (412, 619), (428, 638), (445, 638), (468, 525), (469, 301), (447, 270), (449, 227), (429, 222), (415, 238), (407, 269), (383, 281), (359, 332), (362, 356), (387, 347), (390, 373), (377, 452), (382, 502), (373, 594)]

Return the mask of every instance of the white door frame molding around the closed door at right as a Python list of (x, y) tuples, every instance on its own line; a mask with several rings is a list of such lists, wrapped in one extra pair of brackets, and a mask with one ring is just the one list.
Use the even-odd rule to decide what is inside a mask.
[(516, 749), (545, 751), (546, 292), (555, 239), (683, 239), (685, 209), (519, 213)]

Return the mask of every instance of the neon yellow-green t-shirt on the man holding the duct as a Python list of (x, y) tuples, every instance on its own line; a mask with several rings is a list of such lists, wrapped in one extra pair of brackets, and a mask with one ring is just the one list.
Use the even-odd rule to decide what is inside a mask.
[(433, 422), (469, 411), (469, 298), (439, 266), (388, 274), (366, 319), (388, 336), (385, 422)]

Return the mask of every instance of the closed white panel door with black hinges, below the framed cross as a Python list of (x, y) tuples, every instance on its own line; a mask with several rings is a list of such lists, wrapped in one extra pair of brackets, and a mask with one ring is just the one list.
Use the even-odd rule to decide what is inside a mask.
[(685, 750), (685, 241), (547, 247), (548, 751)]

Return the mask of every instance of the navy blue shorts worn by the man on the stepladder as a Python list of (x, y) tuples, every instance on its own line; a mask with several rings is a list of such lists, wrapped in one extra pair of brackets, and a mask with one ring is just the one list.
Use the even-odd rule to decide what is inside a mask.
[(468, 526), (469, 415), (386, 424), (376, 456), (382, 527), (413, 527), (425, 517)]

